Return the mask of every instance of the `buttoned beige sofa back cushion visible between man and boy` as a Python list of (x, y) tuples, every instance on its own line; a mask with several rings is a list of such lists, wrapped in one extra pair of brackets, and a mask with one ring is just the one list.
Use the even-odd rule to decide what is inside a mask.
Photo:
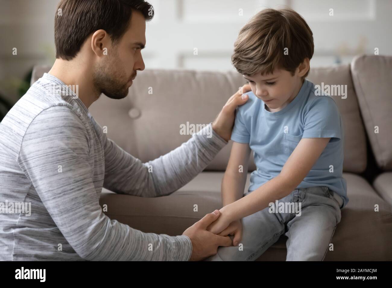
[[(127, 98), (113, 101), (101, 97), (89, 110), (101, 126), (108, 127), (109, 138), (146, 162), (191, 137), (180, 134), (180, 125), (214, 121), (227, 99), (244, 83), (234, 72), (145, 70), (138, 73)], [(207, 170), (225, 170), (231, 145), (232, 141)], [(249, 170), (255, 170), (252, 156), (249, 163)]]

